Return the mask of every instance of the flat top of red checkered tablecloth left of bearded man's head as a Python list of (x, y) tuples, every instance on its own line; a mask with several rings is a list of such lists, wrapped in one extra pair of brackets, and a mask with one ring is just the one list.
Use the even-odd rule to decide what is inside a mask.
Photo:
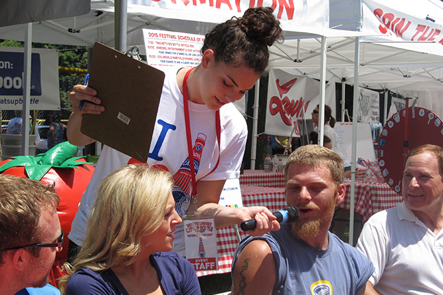
[(284, 188), (284, 172), (245, 170), (240, 175), (240, 185), (255, 185), (269, 188)]

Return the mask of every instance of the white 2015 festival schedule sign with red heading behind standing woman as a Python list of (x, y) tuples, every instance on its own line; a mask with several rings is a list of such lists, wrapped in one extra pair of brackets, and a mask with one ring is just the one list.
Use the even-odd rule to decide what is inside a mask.
[(150, 66), (198, 66), (204, 36), (155, 29), (143, 29), (146, 58)]

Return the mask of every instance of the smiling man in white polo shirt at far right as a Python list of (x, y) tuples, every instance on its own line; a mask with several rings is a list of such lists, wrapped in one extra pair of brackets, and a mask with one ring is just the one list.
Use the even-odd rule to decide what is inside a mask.
[(443, 148), (407, 154), (403, 203), (364, 224), (357, 248), (373, 261), (366, 294), (443, 294)]

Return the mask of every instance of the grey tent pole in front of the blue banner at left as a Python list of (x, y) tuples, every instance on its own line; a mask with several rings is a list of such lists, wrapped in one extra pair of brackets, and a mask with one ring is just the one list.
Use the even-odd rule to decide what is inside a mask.
[(29, 155), (29, 97), (31, 96), (31, 44), (32, 23), (25, 29), (25, 51), (23, 51), (23, 112), (22, 112), (22, 155)]

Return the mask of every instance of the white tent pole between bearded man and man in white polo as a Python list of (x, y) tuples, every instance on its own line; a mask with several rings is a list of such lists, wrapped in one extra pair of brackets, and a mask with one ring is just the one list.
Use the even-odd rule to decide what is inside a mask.
[(354, 87), (352, 110), (352, 153), (351, 153), (351, 206), (349, 209), (349, 244), (353, 245), (354, 209), (355, 209), (355, 163), (357, 157), (358, 127), (358, 68), (360, 64), (360, 37), (355, 37)]

